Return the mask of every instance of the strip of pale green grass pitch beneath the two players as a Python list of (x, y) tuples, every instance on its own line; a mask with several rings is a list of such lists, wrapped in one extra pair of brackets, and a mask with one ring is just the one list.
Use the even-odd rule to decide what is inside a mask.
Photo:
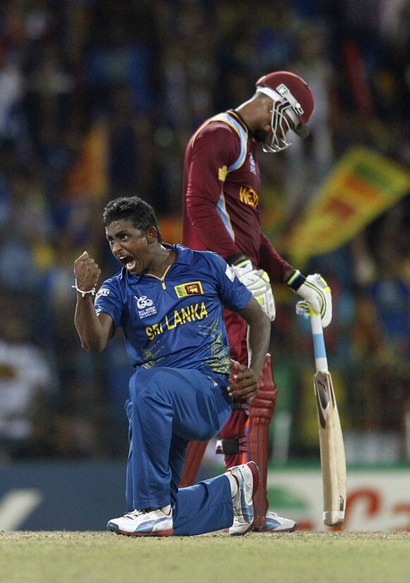
[(0, 532), (0, 581), (408, 583), (409, 532), (131, 538)]

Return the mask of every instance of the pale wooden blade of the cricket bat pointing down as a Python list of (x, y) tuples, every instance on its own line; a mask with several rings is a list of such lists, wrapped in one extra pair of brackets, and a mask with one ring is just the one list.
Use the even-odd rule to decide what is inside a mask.
[(323, 479), (323, 522), (340, 526), (346, 508), (346, 459), (342, 428), (329, 372), (313, 377), (319, 425), (319, 445)]

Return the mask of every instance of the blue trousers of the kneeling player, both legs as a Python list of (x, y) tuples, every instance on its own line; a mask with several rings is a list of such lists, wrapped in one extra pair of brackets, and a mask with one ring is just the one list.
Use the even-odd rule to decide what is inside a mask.
[(125, 403), (130, 451), (128, 510), (173, 506), (174, 534), (201, 534), (232, 525), (230, 483), (226, 476), (178, 489), (189, 441), (206, 441), (231, 413), (226, 391), (199, 370), (138, 369)]

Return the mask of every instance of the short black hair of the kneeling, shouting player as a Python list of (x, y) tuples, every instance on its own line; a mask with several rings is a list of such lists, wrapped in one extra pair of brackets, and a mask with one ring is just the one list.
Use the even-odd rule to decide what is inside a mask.
[(104, 208), (103, 221), (107, 227), (114, 220), (129, 220), (132, 226), (146, 232), (149, 227), (155, 227), (159, 243), (162, 242), (161, 232), (154, 208), (139, 196), (121, 196), (109, 201)]

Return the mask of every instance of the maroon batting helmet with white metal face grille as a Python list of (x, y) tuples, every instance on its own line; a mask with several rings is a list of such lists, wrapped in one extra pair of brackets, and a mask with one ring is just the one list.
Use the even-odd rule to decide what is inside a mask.
[[(313, 94), (302, 77), (288, 71), (268, 73), (256, 82), (256, 92), (267, 95), (274, 102), (271, 118), (273, 138), (270, 146), (263, 147), (264, 151), (278, 152), (290, 146), (291, 142), (286, 140), (288, 130), (302, 138), (309, 136), (306, 123), (313, 112)], [(288, 118), (292, 120), (292, 125)]]

